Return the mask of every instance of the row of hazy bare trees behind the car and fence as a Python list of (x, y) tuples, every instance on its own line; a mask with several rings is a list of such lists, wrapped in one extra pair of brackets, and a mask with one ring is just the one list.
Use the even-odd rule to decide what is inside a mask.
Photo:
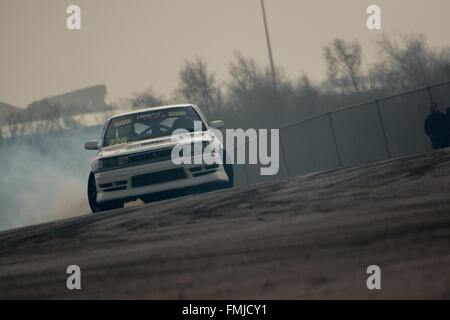
[(186, 60), (178, 86), (166, 98), (151, 87), (130, 98), (134, 109), (178, 102), (197, 104), (208, 119), (229, 127), (279, 127), (349, 104), (372, 100), (450, 79), (450, 48), (432, 48), (422, 35), (387, 36), (376, 42), (377, 61), (364, 67), (358, 41), (333, 39), (323, 48), (326, 79), (307, 75), (290, 80), (276, 68), (274, 88), (268, 67), (236, 53), (229, 80), (220, 83), (202, 58)]

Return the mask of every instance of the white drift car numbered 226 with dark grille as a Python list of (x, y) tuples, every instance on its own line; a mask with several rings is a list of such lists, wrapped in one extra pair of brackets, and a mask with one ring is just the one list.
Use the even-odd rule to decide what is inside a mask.
[[(194, 122), (202, 124), (196, 132)], [(208, 165), (202, 161), (202, 150), (209, 144), (219, 144), (223, 150), (210, 130), (222, 126), (220, 120), (208, 125), (195, 105), (155, 107), (113, 116), (105, 124), (101, 141), (85, 144), (87, 150), (99, 150), (91, 161), (87, 188), (92, 212), (121, 208), (124, 202), (137, 199), (147, 203), (177, 196), (186, 190), (232, 187), (231, 164), (217, 161)], [(180, 137), (183, 143), (202, 146), (200, 153), (192, 148), (191, 164), (176, 165), (172, 160), (172, 149), (179, 144), (172, 135), (177, 129), (191, 132)], [(224, 150), (220, 153), (226, 157)], [(220, 159), (220, 153), (213, 156)]]

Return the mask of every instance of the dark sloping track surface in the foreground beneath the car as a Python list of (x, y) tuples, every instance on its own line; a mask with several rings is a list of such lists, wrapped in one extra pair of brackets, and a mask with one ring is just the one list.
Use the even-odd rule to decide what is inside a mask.
[(450, 299), (449, 191), (443, 150), (5, 231), (0, 298)]

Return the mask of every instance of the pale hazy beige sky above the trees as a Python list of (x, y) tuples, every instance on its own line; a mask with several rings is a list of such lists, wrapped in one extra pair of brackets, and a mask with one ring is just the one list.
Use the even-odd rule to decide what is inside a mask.
[[(450, 45), (449, 0), (265, 0), (275, 63), (295, 79), (325, 75), (322, 46), (358, 39), (367, 61), (382, 33), (423, 33)], [(66, 8), (81, 7), (81, 30)], [(382, 31), (366, 8), (382, 9)], [(170, 95), (185, 59), (204, 58), (226, 81), (236, 50), (267, 64), (259, 0), (0, 0), (0, 101), (31, 101), (105, 83), (115, 100), (152, 86)]]

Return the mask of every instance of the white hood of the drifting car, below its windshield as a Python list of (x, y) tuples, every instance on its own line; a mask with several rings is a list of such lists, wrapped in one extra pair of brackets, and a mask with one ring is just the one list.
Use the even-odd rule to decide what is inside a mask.
[(194, 143), (210, 139), (210, 134), (203, 131), (202, 133), (191, 133), (189, 135), (165, 136), (153, 139), (133, 141), (115, 146), (103, 147), (98, 154), (98, 158), (110, 158), (133, 153), (170, 148), (179, 143)]

